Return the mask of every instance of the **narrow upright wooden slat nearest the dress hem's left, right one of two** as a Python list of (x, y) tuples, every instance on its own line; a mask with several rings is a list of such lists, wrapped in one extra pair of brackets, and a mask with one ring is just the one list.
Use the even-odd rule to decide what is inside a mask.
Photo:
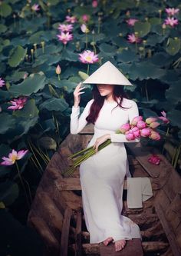
[(81, 230), (82, 230), (82, 214), (81, 210), (77, 211), (77, 221), (75, 229), (75, 245), (76, 245), (76, 255), (82, 255), (82, 243), (81, 243)]

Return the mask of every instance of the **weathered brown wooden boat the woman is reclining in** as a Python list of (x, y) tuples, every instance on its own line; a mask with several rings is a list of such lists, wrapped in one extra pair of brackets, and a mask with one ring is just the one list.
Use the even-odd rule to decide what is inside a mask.
[[(78, 135), (68, 135), (53, 155), (44, 171), (28, 214), (28, 225), (35, 228), (44, 240), (44, 255), (181, 255), (181, 178), (169, 161), (155, 148), (140, 143), (127, 143), (130, 172), (133, 177), (149, 177), (153, 197), (143, 202), (143, 208), (127, 208), (127, 181), (124, 182), (123, 212), (135, 221), (143, 241), (128, 241), (122, 251), (115, 252), (114, 244), (90, 244), (84, 223), (81, 185), (78, 168), (70, 178), (62, 172), (71, 166), (67, 157), (85, 148), (93, 135), (87, 125)], [(152, 154), (161, 158), (152, 165)], [(111, 217), (111, 216), (110, 216)]]

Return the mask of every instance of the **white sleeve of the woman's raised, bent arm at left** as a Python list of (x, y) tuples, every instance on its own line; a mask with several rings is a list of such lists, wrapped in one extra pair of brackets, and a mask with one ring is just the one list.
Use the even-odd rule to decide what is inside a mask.
[(77, 135), (77, 133), (79, 133), (85, 127), (85, 125), (87, 125), (86, 118), (89, 115), (89, 111), (93, 101), (94, 99), (91, 99), (91, 101), (87, 102), (87, 105), (85, 106), (84, 111), (82, 112), (80, 118), (79, 118), (80, 107), (72, 106), (71, 124), (70, 124), (70, 131), (72, 135)]

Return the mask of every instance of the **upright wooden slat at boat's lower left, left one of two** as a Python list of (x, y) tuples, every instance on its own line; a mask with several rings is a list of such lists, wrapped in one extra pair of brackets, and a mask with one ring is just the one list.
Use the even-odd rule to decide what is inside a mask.
[(60, 248), (60, 256), (67, 256), (67, 248), (68, 248), (68, 235), (70, 228), (72, 210), (68, 208), (64, 212), (64, 221), (61, 231), (61, 248)]

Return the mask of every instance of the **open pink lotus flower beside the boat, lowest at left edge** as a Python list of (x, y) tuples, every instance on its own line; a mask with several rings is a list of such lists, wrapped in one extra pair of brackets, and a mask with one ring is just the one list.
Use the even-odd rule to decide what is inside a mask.
[(20, 151), (15, 151), (15, 149), (12, 150), (11, 153), (9, 153), (8, 158), (3, 157), (0, 165), (14, 165), (16, 160), (19, 160), (23, 158), (27, 154), (28, 150), (20, 150)]

